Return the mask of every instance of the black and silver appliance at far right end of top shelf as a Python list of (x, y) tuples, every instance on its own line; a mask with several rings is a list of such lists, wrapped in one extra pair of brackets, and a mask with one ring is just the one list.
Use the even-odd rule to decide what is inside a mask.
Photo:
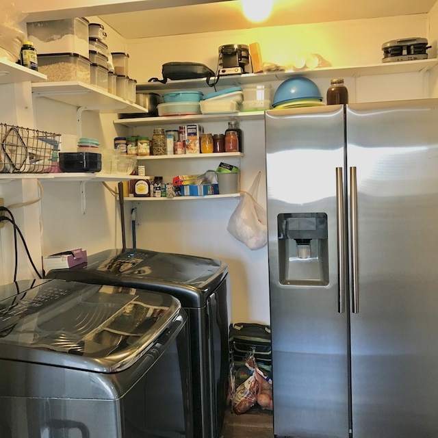
[(426, 60), (428, 46), (426, 38), (403, 38), (382, 44), (382, 62)]

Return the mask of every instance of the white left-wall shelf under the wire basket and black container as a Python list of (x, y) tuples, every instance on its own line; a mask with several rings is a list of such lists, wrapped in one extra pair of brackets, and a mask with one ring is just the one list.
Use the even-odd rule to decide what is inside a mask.
[(40, 181), (129, 181), (137, 179), (133, 175), (101, 174), (99, 172), (64, 172), (64, 173), (1, 173), (0, 183), (17, 179), (39, 179)]

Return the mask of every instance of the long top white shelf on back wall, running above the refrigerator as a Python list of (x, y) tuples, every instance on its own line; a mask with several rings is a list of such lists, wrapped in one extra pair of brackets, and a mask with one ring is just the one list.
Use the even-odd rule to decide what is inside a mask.
[[(219, 77), (218, 85), (221, 86), (240, 86), (251, 83), (285, 81), (289, 77), (305, 76), (309, 79), (319, 79), (324, 77), (360, 77), (366, 75), (390, 75), (393, 73), (425, 72), (438, 64), (438, 59), (402, 61), (402, 62), (382, 62), (381, 64), (371, 64), (368, 66), (344, 66), (344, 67), (325, 67), (315, 68), (314, 70), (300, 70), (291, 72), (271, 72), (271, 73), (248, 73), (244, 75), (229, 75)], [(210, 79), (210, 83), (214, 78)], [(185, 88), (206, 87), (206, 79), (185, 79), (183, 81), (168, 81), (167, 83), (148, 82), (137, 85), (137, 90), (173, 90)]]

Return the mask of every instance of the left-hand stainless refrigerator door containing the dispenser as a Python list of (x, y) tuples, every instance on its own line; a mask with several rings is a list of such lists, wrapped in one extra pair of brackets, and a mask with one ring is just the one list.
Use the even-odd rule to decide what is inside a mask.
[[(336, 200), (344, 107), (272, 110), (265, 120), (274, 434), (346, 438), (348, 314), (338, 311)], [(319, 277), (307, 270), (315, 257), (328, 257)]]

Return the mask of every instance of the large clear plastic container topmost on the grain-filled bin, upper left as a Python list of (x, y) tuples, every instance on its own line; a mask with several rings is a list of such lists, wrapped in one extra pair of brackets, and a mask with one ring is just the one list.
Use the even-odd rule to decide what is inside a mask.
[(34, 21), (27, 23), (27, 38), (34, 43), (38, 55), (47, 53), (79, 53), (88, 57), (88, 20)]

